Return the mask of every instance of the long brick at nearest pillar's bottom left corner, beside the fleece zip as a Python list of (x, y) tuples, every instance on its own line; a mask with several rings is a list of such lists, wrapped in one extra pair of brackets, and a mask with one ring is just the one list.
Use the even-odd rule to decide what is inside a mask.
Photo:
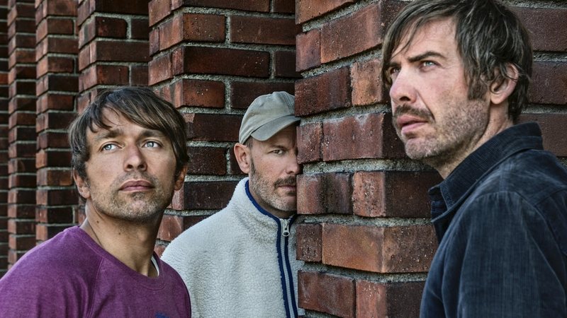
[(312, 271), (298, 272), (298, 302), (305, 310), (355, 317), (354, 279)]

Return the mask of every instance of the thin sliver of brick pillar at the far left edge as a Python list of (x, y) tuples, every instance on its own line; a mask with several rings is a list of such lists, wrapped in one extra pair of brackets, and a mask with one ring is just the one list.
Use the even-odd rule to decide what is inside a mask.
[(8, 267), (8, 18), (0, 2), (0, 278)]

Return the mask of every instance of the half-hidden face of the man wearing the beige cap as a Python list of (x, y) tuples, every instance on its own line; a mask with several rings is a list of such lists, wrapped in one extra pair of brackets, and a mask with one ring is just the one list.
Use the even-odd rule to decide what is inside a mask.
[(288, 126), (266, 141), (254, 140), (250, 148), (249, 187), (262, 208), (280, 218), (296, 211), (296, 126)]

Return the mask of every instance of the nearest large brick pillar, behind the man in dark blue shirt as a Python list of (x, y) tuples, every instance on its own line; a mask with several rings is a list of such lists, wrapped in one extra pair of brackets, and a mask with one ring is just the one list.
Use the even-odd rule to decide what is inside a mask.
[[(299, 305), (307, 315), (418, 317), (437, 247), (427, 189), (441, 181), (409, 160), (381, 85), (386, 28), (407, 1), (297, 1)], [(545, 146), (567, 155), (567, 16), (562, 8), (517, 8), (537, 56), (528, 114)], [(547, 53), (543, 53), (543, 52)], [(545, 114), (544, 114), (545, 113)], [(563, 128), (562, 128), (563, 127)], [(563, 162), (567, 162), (563, 158)]]

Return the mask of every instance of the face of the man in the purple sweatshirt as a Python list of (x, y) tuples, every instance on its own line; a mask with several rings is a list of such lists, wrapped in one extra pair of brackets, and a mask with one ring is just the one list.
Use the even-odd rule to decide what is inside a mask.
[(87, 131), (90, 158), (79, 193), (89, 211), (134, 222), (159, 218), (179, 189), (184, 173), (174, 176), (172, 143), (160, 131), (133, 124), (104, 110), (110, 129)]

